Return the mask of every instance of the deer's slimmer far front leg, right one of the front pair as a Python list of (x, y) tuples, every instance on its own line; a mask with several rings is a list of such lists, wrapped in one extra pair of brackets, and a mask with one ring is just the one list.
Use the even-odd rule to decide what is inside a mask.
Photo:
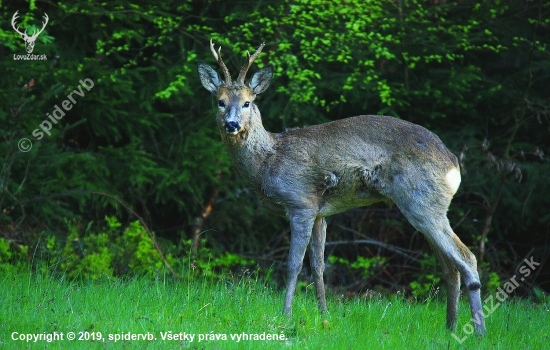
[(325, 239), (327, 223), (325, 218), (317, 217), (313, 224), (313, 235), (309, 242), (309, 262), (313, 274), (313, 283), (317, 294), (319, 310), (327, 312), (327, 301), (325, 299), (325, 283), (323, 272), (325, 271)]

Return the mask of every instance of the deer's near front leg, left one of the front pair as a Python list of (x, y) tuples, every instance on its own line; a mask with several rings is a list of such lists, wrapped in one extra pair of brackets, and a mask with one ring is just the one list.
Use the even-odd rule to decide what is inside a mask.
[(290, 251), (288, 253), (288, 281), (283, 308), (283, 314), (285, 315), (292, 313), (292, 300), (296, 291), (296, 282), (298, 274), (302, 270), (302, 263), (311, 238), (316, 213), (313, 210), (302, 209), (290, 211), (288, 216), (290, 218)]

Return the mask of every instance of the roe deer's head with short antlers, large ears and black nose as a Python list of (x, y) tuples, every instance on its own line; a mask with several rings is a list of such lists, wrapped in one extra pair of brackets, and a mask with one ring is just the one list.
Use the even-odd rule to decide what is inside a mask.
[(219, 74), (212, 67), (202, 61), (199, 62), (198, 71), (202, 85), (218, 97), (217, 122), (224, 137), (238, 138), (238, 135), (244, 136), (253, 128), (254, 123), (258, 122), (255, 117), (259, 118), (260, 113), (253, 102), (256, 95), (268, 88), (273, 77), (273, 66), (268, 65), (260, 69), (248, 83), (245, 83), (245, 77), (263, 47), (264, 44), (260, 45), (252, 56), (247, 52), (247, 60), (235, 82), (231, 80), (229, 69), (222, 60), (221, 47), (216, 52), (212, 40), (210, 40), (210, 49), (222, 68), (225, 80), (222, 81)]

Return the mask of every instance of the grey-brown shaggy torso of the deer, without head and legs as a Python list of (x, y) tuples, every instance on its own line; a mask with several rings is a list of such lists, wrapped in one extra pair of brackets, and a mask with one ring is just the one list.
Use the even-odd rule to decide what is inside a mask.
[[(395, 130), (403, 132), (401, 137), (395, 137)], [(430, 176), (445, 180), (446, 173), (458, 168), (456, 157), (437, 136), (392, 117), (357, 116), (269, 137), (273, 147), (253, 167), (258, 174), (244, 176), (266, 200), (287, 210), (307, 206), (322, 217), (394, 202), (394, 196), (405, 195), (394, 191), (396, 186), (409, 186), (405, 192), (421, 197), (432, 186)], [(446, 184), (448, 192), (442, 195), (450, 199), (457, 185)]]

